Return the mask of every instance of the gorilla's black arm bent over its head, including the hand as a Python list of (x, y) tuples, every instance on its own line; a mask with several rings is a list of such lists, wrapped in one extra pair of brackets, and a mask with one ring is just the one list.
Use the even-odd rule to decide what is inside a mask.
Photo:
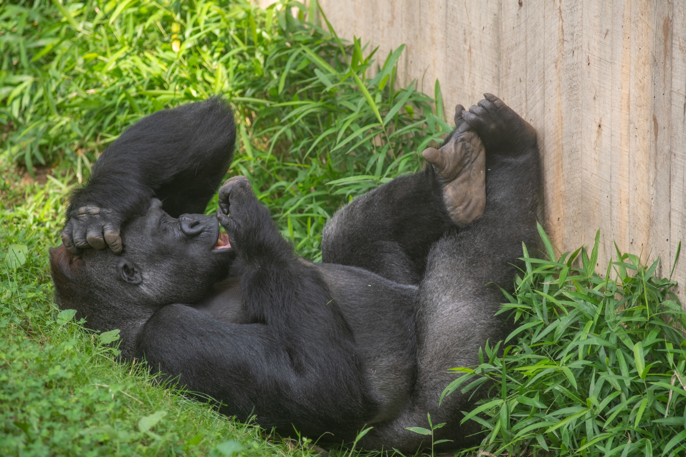
[(173, 217), (202, 213), (230, 164), (235, 136), (233, 113), (218, 97), (141, 119), (102, 153), (73, 194), (64, 246), (72, 254), (106, 245), (121, 253), (121, 224), (152, 197)]

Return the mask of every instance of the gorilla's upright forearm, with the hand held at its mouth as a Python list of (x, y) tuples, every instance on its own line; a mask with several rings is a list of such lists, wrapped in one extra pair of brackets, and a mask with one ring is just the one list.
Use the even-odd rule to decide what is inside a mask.
[(244, 264), (241, 291), (250, 320), (266, 323), (300, 367), (311, 362), (301, 356), (321, 350), (359, 371), (353, 333), (329, 286), (318, 269), (294, 254), (247, 178), (226, 181), (219, 200), (217, 218)]

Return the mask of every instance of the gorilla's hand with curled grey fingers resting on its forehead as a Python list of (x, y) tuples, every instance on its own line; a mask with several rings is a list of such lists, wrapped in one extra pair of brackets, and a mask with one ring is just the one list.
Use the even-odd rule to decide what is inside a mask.
[(62, 230), (62, 243), (71, 254), (93, 247), (104, 249), (109, 246), (115, 254), (121, 254), (121, 220), (115, 212), (106, 208), (86, 205), (68, 214), (67, 224)]

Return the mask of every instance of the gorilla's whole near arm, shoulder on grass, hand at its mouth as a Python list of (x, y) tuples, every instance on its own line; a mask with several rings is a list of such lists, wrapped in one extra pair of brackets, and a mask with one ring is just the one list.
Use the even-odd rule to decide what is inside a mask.
[(241, 293), (248, 324), (224, 323), (196, 308), (165, 306), (147, 321), (139, 354), (154, 369), (211, 395), (222, 412), (263, 428), (316, 438), (354, 438), (373, 417), (362, 358), (322, 274), (297, 258), (245, 177), (220, 190), (220, 213), (244, 264)]

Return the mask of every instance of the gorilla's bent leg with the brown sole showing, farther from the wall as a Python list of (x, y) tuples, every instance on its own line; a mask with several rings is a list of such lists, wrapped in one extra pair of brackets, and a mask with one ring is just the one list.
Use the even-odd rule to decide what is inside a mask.
[(484, 211), (485, 152), (456, 107), (456, 129), (431, 164), (357, 197), (333, 215), (322, 236), (322, 260), (361, 267), (402, 284), (418, 284), (431, 245)]

